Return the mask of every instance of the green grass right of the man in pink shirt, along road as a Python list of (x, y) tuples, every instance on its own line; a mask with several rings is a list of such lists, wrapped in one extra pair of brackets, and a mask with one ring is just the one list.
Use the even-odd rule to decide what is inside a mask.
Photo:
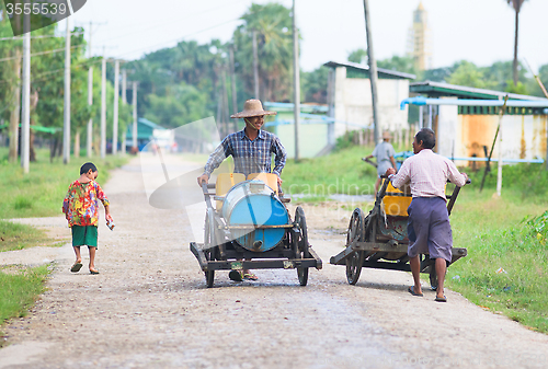
[(548, 333), (548, 203), (523, 199), (521, 191), (496, 199), (487, 189), (480, 195), (465, 187), (457, 200), (454, 244), (467, 247), (468, 256), (448, 268), (446, 285), (487, 310)]

